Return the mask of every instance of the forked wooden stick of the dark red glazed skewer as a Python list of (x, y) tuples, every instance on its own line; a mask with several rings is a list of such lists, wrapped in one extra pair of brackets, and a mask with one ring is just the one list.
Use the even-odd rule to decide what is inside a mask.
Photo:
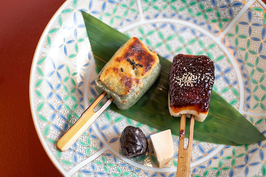
[(178, 161), (177, 161), (177, 172), (176, 172), (177, 177), (189, 177), (190, 158), (192, 155), (192, 145), (193, 145), (194, 122), (195, 122), (195, 116), (191, 114), (190, 123), (189, 123), (188, 146), (187, 148), (184, 148), (186, 114), (181, 114)]

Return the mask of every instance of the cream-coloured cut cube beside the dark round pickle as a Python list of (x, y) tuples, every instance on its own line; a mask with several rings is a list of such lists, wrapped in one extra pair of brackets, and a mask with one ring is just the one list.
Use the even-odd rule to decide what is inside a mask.
[(173, 158), (174, 154), (171, 130), (169, 129), (150, 135), (150, 140), (159, 168), (165, 167)]

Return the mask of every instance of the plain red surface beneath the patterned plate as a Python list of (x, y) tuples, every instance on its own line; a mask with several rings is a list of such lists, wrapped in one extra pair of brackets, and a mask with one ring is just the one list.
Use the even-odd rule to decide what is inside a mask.
[(61, 176), (33, 124), (29, 79), (41, 34), (64, 1), (0, 0), (0, 176)]

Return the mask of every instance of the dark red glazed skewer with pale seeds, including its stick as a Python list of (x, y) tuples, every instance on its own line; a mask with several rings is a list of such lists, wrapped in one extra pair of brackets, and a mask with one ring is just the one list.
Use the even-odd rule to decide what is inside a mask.
[[(189, 176), (194, 119), (204, 121), (214, 83), (214, 65), (209, 57), (176, 55), (169, 73), (168, 106), (172, 116), (181, 116), (177, 176)], [(184, 147), (186, 115), (190, 115), (188, 146)]]

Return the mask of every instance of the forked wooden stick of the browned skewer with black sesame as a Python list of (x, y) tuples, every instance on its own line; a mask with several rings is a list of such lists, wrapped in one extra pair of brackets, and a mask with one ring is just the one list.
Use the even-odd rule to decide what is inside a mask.
[(61, 151), (68, 150), (70, 146), (85, 132), (85, 130), (93, 124), (93, 122), (103, 113), (103, 111), (113, 102), (111, 97), (103, 104), (98, 111), (94, 111), (95, 107), (106, 96), (106, 93), (101, 93), (95, 101), (82, 113), (77, 122), (58, 140), (57, 148)]

